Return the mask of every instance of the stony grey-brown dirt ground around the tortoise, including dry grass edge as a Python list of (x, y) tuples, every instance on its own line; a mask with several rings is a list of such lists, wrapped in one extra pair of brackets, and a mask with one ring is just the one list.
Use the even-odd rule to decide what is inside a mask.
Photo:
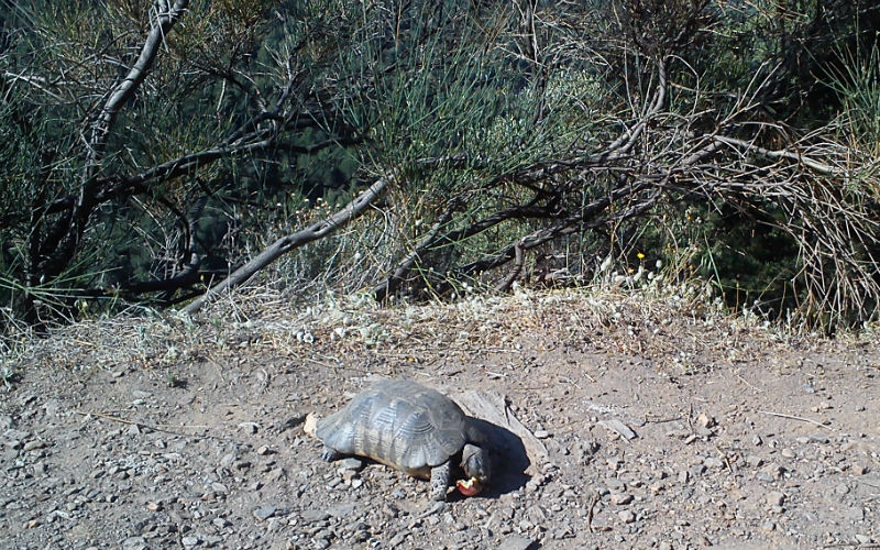
[[(680, 296), (218, 306), (6, 358), (0, 548), (880, 544), (880, 344)], [(504, 396), (546, 449), (476, 497), (323, 463), (306, 416), (375, 376)], [(517, 481), (518, 480), (518, 481)]]

